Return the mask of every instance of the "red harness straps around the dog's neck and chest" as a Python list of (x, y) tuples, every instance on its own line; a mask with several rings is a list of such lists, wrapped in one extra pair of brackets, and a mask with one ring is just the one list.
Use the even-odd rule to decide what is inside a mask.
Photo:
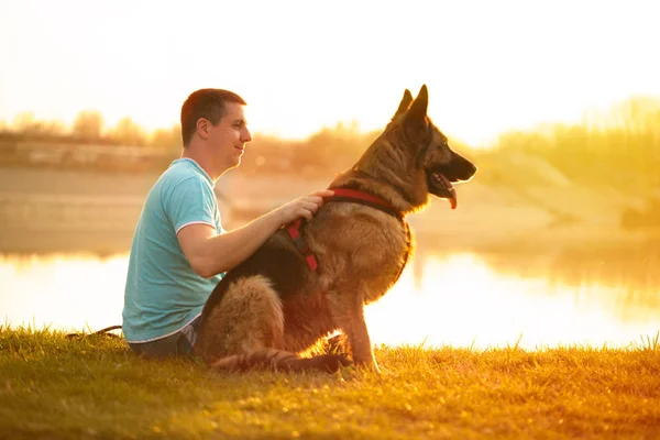
[[(394, 217), (403, 220), (402, 212), (399, 212), (395, 207), (393, 207), (391, 204), (388, 204), (387, 201), (383, 200), (380, 197), (373, 196), (367, 193), (359, 191), (356, 189), (348, 189), (348, 188), (331, 188), (331, 189), (334, 191), (334, 196), (323, 198), (324, 204), (328, 204), (330, 201), (349, 201), (349, 202), (353, 202), (353, 204), (365, 205), (365, 206), (370, 206), (372, 208), (376, 208), (383, 212), (386, 212), (391, 216), (394, 216)], [(286, 227), (286, 231), (288, 232), (289, 237), (294, 241), (294, 244), (296, 245), (296, 249), (298, 250), (298, 252), (300, 252), (302, 254), (302, 256), (305, 257), (305, 261), (307, 262), (307, 265), (309, 266), (309, 268), (312, 271), (316, 271), (319, 263), (318, 263), (315, 254), (311, 253), (311, 250), (309, 249), (309, 245), (307, 244), (307, 240), (305, 240), (305, 237), (302, 237), (302, 234), (300, 232), (302, 224), (304, 224), (304, 219), (298, 219), (298, 220), (294, 221), (293, 223), (289, 223)]]

